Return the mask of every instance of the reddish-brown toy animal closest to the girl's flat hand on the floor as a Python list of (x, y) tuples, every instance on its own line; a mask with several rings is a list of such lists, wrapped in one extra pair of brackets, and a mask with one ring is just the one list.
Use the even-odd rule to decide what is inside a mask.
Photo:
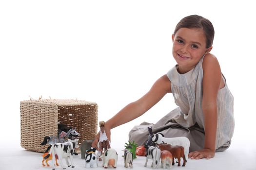
[(182, 146), (172, 146), (170, 144), (164, 144), (161, 143), (158, 145), (158, 147), (160, 148), (161, 151), (167, 150), (170, 151), (173, 155), (173, 163), (172, 165), (174, 165), (174, 158), (178, 159), (178, 167), (180, 166), (180, 158), (183, 158), (183, 164), (182, 167), (185, 167), (186, 165), (186, 158), (184, 155), (184, 148)]

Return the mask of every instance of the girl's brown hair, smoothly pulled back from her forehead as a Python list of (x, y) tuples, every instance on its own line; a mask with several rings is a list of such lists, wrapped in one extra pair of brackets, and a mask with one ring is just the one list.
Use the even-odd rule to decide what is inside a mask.
[(201, 28), (203, 29), (203, 32), (206, 37), (206, 48), (209, 48), (213, 45), (214, 40), (214, 27), (211, 21), (208, 19), (197, 16), (197, 15), (191, 15), (182, 18), (176, 25), (176, 28), (174, 30), (174, 34), (177, 33), (177, 31), (180, 28)]

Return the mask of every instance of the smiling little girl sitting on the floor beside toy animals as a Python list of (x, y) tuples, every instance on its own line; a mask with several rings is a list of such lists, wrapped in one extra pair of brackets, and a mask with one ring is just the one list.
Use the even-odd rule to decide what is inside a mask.
[[(214, 40), (212, 23), (201, 16), (181, 19), (172, 35), (173, 57), (177, 65), (161, 76), (138, 101), (120, 110), (105, 124), (110, 130), (138, 118), (172, 93), (178, 107), (156, 124), (143, 122), (129, 133), (129, 140), (143, 145), (148, 126), (153, 133), (165, 137), (186, 136), (190, 140), (191, 159), (209, 159), (215, 152), (226, 150), (231, 144), (235, 121), (233, 96), (221, 73), (217, 58), (209, 53)], [(93, 146), (98, 143), (96, 136)]]

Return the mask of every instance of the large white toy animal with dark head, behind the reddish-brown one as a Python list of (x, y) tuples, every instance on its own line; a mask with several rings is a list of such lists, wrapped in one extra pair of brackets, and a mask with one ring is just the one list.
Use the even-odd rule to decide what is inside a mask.
[(164, 137), (163, 134), (157, 133), (153, 134), (152, 141), (157, 144), (167, 143), (173, 146), (182, 146), (184, 148), (186, 160), (188, 159), (190, 141), (187, 137)]

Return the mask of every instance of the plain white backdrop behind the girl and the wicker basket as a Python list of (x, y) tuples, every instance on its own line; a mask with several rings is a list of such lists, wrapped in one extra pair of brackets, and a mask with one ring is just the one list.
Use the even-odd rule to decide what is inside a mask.
[[(20, 147), (20, 101), (29, 96), (97, 102), (98, 119), (110, 119), (176, 64), (171, 35), (192, 14), (215, 27), (212, 53), (235, 97), (233, 142), (255, 144), (256, 12), (247, 0), (1, 0), (0, 144)], [(134, 125), (174, 108), (167, 94), (113, 129), (112, 143), (124, 145)]]

